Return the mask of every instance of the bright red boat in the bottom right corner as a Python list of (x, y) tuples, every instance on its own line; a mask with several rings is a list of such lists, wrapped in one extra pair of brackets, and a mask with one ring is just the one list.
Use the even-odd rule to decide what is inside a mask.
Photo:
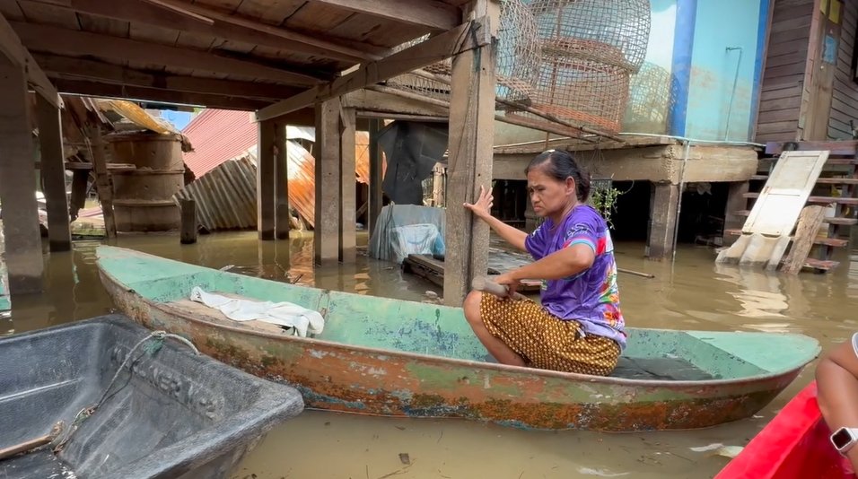
[(715, 479), (854, 479), (852, 466), (831, 445), (830, 435), (813, 381)]

